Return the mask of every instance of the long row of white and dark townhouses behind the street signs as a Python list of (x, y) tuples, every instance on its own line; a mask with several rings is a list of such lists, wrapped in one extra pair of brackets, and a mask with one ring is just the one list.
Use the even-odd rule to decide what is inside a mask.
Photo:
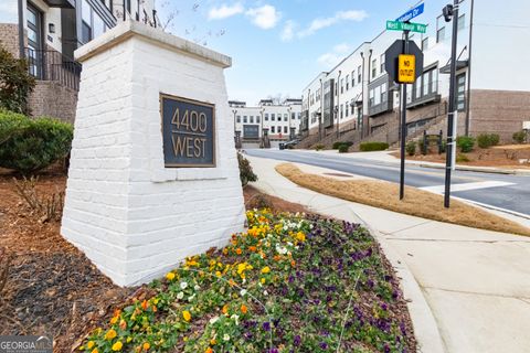
[[(443, 8), (444, 1), (426, 1)], [(530, 120), (530, 4), (464, 0), (459, 6), (457, 84), (458, 135), (499, 133), (510, 141)], [(404, 8), (403, 12), (407, 9)], [(424, 53), (423, 75), (407, 85), (407, 136), (446, 132), (452, 23), (439, 15), (417, 18), (424, 34), (411, 33)], [(384, 23), (382, 21), (381, 26)], [(402, 33), (383, 31), (361, 43), (303, 89), (301, 132), (311, 142), (340, 136), (393, 143), (399, 140), (400, 86), (384, 69), (384, 52)], [(473, 75), (471, 75), (473, 74)], [(322, 96), (324, 94), (324, 96)], [(348, 133), (348, 136), (344, 136)], [(327, 139), (327, 140), (326, 140)]]

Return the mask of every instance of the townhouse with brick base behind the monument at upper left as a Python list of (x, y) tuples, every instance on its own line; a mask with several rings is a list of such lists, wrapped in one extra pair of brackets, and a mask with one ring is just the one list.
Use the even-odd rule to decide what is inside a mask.
[(33, 116), (73, 121), (81, 65), (74, 51), (118, 21), (157, 26), (153, 0), (1, 0), (0, 45), (25, 57), (36, 86), (29, 98)]

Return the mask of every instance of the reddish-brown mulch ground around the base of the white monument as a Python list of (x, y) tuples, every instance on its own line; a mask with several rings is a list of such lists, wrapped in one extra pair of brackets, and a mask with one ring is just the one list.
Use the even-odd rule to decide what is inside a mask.
[[(120, 288), (60, 235), (60, 222), (42, 222), (17, 192), (13, 176), (0, 169), (0, 334), (47, 334), (54, 352), (71, 352), (116, 306), (141, 296), (142, 288)], [(64, 191), (59, 169), (39, 176), (36, 191)], [(306, 212), (300, 205), (244, 189), (247, 208)], [(2, 289), (2, 269), (8, 266)]]

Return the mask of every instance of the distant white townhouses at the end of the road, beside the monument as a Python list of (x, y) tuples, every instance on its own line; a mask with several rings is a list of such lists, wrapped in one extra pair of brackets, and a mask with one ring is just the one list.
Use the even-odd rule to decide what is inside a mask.
[(236, 142), (242, 147), (263, 146), (263, 139), (277, 147), (282, 141), (294, 139), (299, 132), (301, 121), (301, 99), (288, 98), (282, 104), (273, 99), (262, 99), (255, 107), (245, 101), (229, 100)]

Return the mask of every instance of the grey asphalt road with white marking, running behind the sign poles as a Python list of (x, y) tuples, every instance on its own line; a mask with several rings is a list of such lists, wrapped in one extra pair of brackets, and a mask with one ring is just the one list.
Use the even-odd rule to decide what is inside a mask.
[[(296, 150), (247, 149), (245, 151), (254, 157), (306, 163), (394, 183), (400, 182), (399, 163)], [(445, 170), (410, 164), (405, 170), (406, 185), (428, 188), (442, 193)], [(520, 213), (530, 218), (530, 176), (454, 171), (452, 190), (452, 196)]]

